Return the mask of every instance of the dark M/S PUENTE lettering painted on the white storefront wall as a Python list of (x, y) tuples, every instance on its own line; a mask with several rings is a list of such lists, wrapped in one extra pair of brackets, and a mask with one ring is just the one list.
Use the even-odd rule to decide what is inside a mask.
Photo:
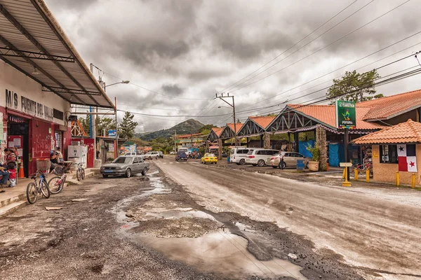
[(17, 92), (6, 89), (6, 107), (15, 109), (36, 118), (44, 120), (54, 120), (53, 108), (50, 108), (39, 102), (35, 102), (27, 97), (19, 96)]

